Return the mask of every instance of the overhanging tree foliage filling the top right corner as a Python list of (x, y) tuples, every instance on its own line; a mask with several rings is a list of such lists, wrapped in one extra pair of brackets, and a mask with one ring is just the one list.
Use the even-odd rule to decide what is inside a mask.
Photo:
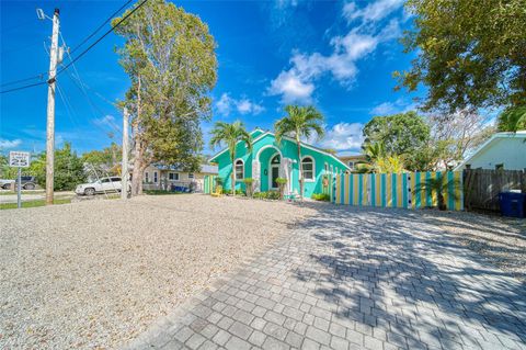
[(428, 88), (424, 110), (526, 104), (524, 0), (409, 0), (405, 8), (414, 30), (402, 43), (418, 56), (395, 77), (410, 91)]

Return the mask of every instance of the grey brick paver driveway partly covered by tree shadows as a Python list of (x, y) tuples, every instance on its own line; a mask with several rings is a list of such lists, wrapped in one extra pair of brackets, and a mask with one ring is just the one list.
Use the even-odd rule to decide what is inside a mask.
[(526, 349), (525, 285), (419, 212), (322, 206), (129, 348)]

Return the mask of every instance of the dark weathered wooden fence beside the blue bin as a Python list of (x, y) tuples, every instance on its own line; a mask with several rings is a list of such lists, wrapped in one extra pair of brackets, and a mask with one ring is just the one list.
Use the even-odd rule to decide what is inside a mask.
[(526, 172), (504, 169), (467, 169), (465, 179), (466, 210), (499, 211), (499, 193), (522, 190), (526, 193)]

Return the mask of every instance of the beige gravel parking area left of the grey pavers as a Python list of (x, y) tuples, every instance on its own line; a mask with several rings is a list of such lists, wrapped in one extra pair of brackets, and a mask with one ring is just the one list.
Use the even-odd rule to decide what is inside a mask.
[(311, 210), (205, 195), (0, 212), (0, 349), (115, 348)]

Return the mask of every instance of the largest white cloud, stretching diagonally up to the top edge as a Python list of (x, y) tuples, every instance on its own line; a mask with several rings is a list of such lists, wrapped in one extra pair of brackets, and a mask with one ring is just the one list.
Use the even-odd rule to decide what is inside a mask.
[[(375, 4), (377, 5), (373, 7)], [(359, 10), (363, 14), (357, 18), (362, 18), (365, 23), (366, 20), (385, 18), (397, 7), (392, 0), (379, 0)], [(348, 15), (351, 8), (356, 9), (356, 5), (347, 3), (344, 7), (344, 16)], [(358, 25), (345, 35), (333, 36), (330, 39), (332, 50), (329, 55), (302, 54), (295, 50), (289, 60), (290, 68), (283, 70), (271, 81), (267, 92), (271, 95), (282, 95), (283, 103), (310, 103), (316, 90), (315, 82), (323, 75), (329, 75), (342, 86), (350, 87), (358, 74), (356, 63), (375, 52), (379, 44), (391, 41), (400, 34), (399, 21), (392, 19), (381, 30), (370, 25)]]

